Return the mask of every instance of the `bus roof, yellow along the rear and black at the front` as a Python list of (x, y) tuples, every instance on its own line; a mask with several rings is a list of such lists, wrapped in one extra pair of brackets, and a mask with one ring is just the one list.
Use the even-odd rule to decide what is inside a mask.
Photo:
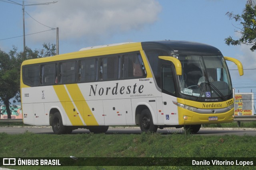
[(61, 61), (66, 59), (108, 55), (114, 53), (126, 53), (138, 50), (166, 50), (172, 54), (190, 54), (190, 55), (222, 55), (221, 52), (213, 46), (190, 42), (190, 41), (148, 41), (141, 43), (118, 43), (110, 45), (102, 45), (96, 47), (83, 48), (80, 51), (56, 55), (53, 57), (44, 57), (39, 59), (26, 60), (22, 63), (44, 63), (50, 61)]

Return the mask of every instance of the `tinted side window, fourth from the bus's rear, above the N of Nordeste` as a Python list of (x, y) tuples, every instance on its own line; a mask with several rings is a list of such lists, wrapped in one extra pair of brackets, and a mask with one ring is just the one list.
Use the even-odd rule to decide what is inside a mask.
[(93, 82), (97, 80), (97, 63), (96, 59), (79, 61), (79, 82)]

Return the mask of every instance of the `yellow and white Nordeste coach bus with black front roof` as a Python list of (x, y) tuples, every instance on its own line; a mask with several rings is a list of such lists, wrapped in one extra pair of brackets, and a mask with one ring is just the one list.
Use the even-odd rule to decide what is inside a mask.
[(20, 88), (24, 124), (50, 125), (55, 134), (112, 125), (143, 132), (234, 119), (232, 83), (224, 57), (210, 45), (148, 41), (83, 48), (26, 60)]

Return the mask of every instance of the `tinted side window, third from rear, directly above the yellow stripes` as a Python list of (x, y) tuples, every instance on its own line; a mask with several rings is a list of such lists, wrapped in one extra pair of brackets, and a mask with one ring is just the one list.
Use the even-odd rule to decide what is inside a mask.
[(60, 83), (69, 84), (76, 82), (76, 61), (60, 63)]

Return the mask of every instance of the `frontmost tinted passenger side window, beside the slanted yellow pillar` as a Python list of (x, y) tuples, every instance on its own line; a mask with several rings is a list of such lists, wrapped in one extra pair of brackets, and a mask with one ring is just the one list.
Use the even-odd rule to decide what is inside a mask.
[(140, 54), (123, 55), (123, 78), (136, 78), (146, 76), (146, 70)]

